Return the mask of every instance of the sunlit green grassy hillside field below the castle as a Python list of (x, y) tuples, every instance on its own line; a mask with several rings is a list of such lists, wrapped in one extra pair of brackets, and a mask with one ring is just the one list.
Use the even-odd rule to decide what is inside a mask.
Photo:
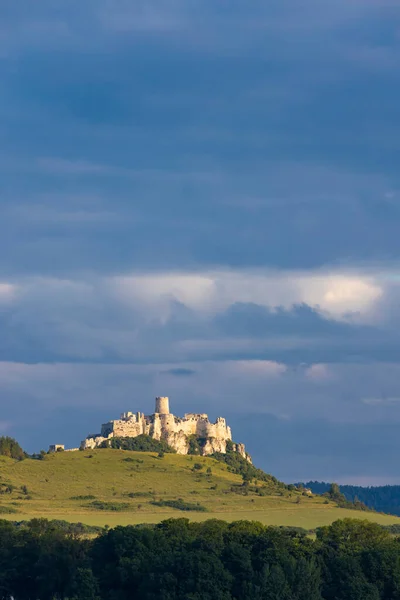
[[(243, 495), (242, 479), (211, 458), (148, 452), (92, 450), (60, 452), (44, 460), (0, 457), (0, 517), (80, 521), (89, 525), (156, 523), (170, 517), (192, 520), (249, 519), (313, 529), (345, 517), (381, 524), (400, 518), (340, 509), (321, 497), (288, 492), (278, 483), (258, 483)], [(259, 495), (259, 493), (268, 495)], [(153, 503), (183, 501), (199, 510)], [(92, 504), (94, 503), (94, 504)], [(113, 509), (113, 510), (111, 510)]]

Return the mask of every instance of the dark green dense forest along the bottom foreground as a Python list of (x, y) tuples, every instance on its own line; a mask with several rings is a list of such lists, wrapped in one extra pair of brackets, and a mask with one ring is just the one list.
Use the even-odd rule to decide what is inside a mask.
[(400, 600), (400, 540), (368, 521), (315, 539), (187, 519), (87, 533), (0, 521), (1, 600)]

